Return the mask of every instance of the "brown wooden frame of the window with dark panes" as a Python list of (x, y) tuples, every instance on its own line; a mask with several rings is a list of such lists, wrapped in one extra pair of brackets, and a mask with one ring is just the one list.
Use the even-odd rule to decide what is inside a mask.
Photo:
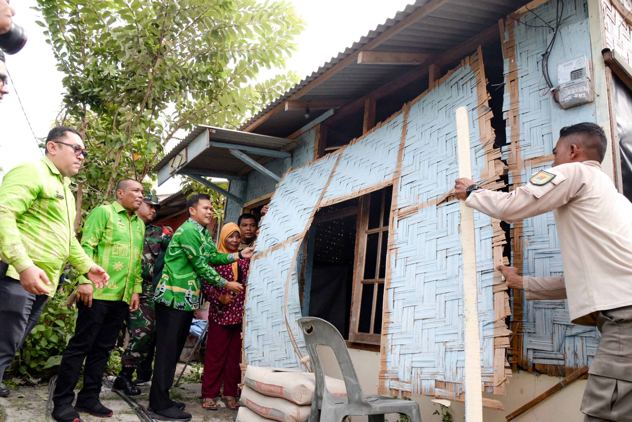
[[(375, 229), (368, 229), (368, 215), (370, 210), (370, 195), (368, 193), (363, 195), (360, 198), (360, 214), (358, 218), (358, 227), (356, 229), (356, 260), (353, 268), (353, 294), (351, 296), (351, 323), (349, 324), (349, 344), (370, 344), (370, 345), (379, 345), (382, 337), (381, 333), (363, 333), (358, 332), (358, 324), (360, 323), (360, 304), (362, 303), (362, 286), (363, 284), (374, 284), (374, 292), (373, 292), (373, 302), (371, 309), (371, 322), (370, 322), (370, 330), (374, 330), (375, 323), (375, 306), (377, 301), (377, 291), (379, 284), (384, 284), (386, 281), (386, 274), (384, 278), (379, 278), (379, 268), (380, 268), (380, 260), (381, 254), (380, 249), (382, 247), (382, 236), (389, 236), (390, 227), (391, 227), (391, 219), (389, 216), (389, 221), (386, 226), (384, 226), (384, 200), (386, 196), (386, 189), (389, 186), (384, 186), (381, 189), (382, 191), (382, 201), (380, 203), (380, 227)], [(392, 201), (392, 199), (391, 199)], [(390, 210), (386, 210), (386, 212), (390, 213)], [(378, 241), (377, 248), (377, 260), (375, 262), (375, 275), (377, 278), (375, 279), (364, 279), (364, 267), (365, 267), (365, 258), (366, 258), (366, 250), (367, 250), (367, 241), (368, 235), (380, 232), (380, 238)], [(386, 259), (388, 259), (388, 253), (386, 255)], [(384, 291), (386, 295), (386, 290)], [(384, 307), (382, 306), (382, 318), (384, 316)]]

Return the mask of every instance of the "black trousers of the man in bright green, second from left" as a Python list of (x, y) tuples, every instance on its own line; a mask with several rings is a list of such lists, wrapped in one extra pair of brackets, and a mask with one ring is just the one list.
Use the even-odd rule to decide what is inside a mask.
[(52, 396), (55, 406), (73, 402), (83, 359), (83, 389), (77, 394), (77, 402), (99, 399), (101, 378), (125, 321), (128, 304), (92, 299), (92, 306), (77, 302), (77, 308), (75, 335), (68, 342), (61, 358), (57, 385)]

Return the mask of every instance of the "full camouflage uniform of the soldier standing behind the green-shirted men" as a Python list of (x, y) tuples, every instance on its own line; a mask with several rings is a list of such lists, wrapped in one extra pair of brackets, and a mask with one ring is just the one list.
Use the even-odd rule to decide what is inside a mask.
[[(162, 227), (147, 224), (145, 227), (145, 241), (143, 242), (143, 255), (141, 258), (143, 291), (140, 293), (138, 310), (128, 313), (127, 327), (130, 331), (130, 343), (128, 344), (121, 364), (124, 368), (137, 368), (143, 359), (153, 351), (154, 340), (154, 275), (156, 281), (162, 274), (164, 254), (171, 241), (172, 234), (163, 234)], [(153, 355), (153, 353), (152, 353)], [(149, 359), (148, 359), (149, 360)], [(143, 370), (151, 370), (149, 365), (142, 365)], [(137, 371), (140, 373), (140, 368)]]

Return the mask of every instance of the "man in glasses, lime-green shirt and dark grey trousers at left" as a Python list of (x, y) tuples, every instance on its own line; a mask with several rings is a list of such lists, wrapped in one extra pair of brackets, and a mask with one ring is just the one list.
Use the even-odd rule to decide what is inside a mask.
[[(75, 238), (70, 177), (87, 154), (73, 128), (52, 128), (42, 159), (9, 171), (0, 186), (0, 376), (54, 296), (66, 263), (95, 286), (109, 280)], [(9, 389), (0, 385), (0, 397)]]

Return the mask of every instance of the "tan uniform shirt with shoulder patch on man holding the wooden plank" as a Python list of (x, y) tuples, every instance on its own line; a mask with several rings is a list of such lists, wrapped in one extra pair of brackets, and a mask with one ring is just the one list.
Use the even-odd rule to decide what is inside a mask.
[(596, 161), (538, 174), (511, 193), (474, 191), (466, 204), (507, 222), (552, 210), (564, 275), (524, 277), (526, 299), (568, 298), (571, 321), (594, 325), (596, 311), (632, 304), (632, 203)]

